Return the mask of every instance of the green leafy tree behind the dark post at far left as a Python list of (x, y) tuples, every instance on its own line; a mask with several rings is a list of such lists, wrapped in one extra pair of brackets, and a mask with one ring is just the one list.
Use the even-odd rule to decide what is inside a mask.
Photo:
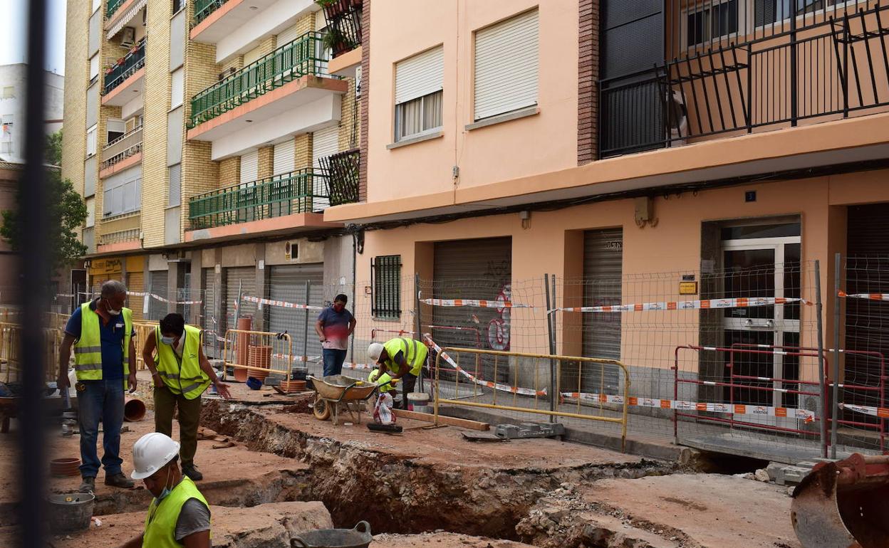
[[(46, 170), (46, 190), (50, 203), (47, 217), (50, 219), (49, 246), (52, 269), (68, 265), (86, 254), (86, 246), (79, 242), (77, 232), (86, 220), (86, 204), (68, 179), (61, 179), (59, 170)], [(16, 196), (21, 201), (21, 191)], [(0, 224), (0, 237), (20, 251), (24, 242), (17, 210), (4, 210)]]

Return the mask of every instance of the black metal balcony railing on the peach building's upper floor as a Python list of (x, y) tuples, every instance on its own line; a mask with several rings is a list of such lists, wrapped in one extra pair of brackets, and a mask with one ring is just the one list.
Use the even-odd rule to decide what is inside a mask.
[[(670, 60), (599, 81), (601, 157), (889, 105), (889, 7), (870, 3), (855, 12), (854, 2), (824, 0), (827, 10), (812, 11), (818, 3), (795, 0), (797, 17), (784, 20), (789, 0), (751, 1), (757, 10), (784, 7), (756, 15), (741, 0), (719, 4), (754, 13), (752, 29), (740, 14), (717, 10), (717, 22), (711, 14), (699, 23), (683, 11), (667, 29)], [(799, 9), (804, 2), (808, 11)]]

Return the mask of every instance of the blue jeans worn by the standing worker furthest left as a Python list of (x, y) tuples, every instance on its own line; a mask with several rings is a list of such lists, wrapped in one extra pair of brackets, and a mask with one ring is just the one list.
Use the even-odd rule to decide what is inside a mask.
[(121, 473), (120, 428), (124, 425), (124, 380), (87, 380), (84, 392), (77, 393), (77, 418), (80, 423), (80, 475), (95, 478), (99, 473), (99, 454), (96, 441), (99, 439), (99, 423), (104, 435), (101, 464), (105, 475)]

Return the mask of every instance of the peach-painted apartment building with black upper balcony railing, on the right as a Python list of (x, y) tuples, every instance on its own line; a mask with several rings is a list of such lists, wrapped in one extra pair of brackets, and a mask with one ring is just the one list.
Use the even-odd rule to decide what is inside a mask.
[[(847, 257), (889, 254), (889, 13), (790, 4), (364, 0), (359, 200), (324, 211), (365, 228), (356, 278), (419, 274), (423, 298), (641, 309), (813, 302), (818, 260), (825, 332), (889, 351), (872, 331), (885, 312), (833, 323), (835, 254), (850, 270)], [(861, 276), (857, 291), (885, 292), (879, 278)], [(412, 329), (412, 291), (364, 298), (377, 328)], [(420, 309), (443, 345), (550, 350), (548, 314), (513, 309), (510, 332), (502, 308)], [(817, 338), (813, 306), (557, 314), (555, 350), (622, 360), (653, 398), (674, 395), (677, 346)], [(689, 377), (731, 364), (708, 355)], [(789, 358), (758, 360), (759, 377), (817, 378)], [(604, 391), (584, 383), (572, 390)]]

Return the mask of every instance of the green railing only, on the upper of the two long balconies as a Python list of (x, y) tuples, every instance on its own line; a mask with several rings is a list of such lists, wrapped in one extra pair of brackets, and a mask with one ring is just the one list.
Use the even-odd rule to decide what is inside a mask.
[(212, 120), (300, 76), (328, 76), (326, 73), (321, 35), (307, 32), (198, 93), (191, 99), (188, 127)]

